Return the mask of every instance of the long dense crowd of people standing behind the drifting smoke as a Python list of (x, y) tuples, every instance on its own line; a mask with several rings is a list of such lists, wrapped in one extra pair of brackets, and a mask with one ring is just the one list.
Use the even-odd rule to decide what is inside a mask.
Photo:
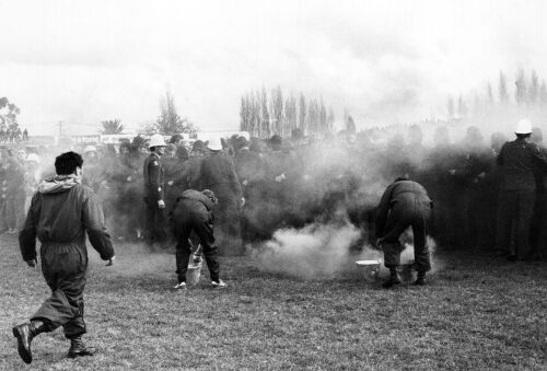
[[(177, 197), (186, 189), (212, 189), (219, 199), (214, 215), (220, 253), (240, 255), (245, 246), (270, 239), (278, 229), (311, 222), (349, 221), (363, 231), (360, 244), (374, 244), (380, 196), (386, 185), (405, 176), (423, 185), (433, 200), (428, 233), (440, 246), (511, 252), (515, 236), (522, 239), (525, 233), (531, 252), (519, 257), (543, 253), (547, 244), (543, 233), (546, 187), (539, 167), (534, 170), (532, 185), (533, 215), (526, 217), (529, 231), (517, 233), (517, 224), (510, 224), (505, 230), (514, 233), (503, 242), (497, 234), (497, 224), (507, 224), (498, 211), (509, 211), (500, 209), (504, 178), (496, 160), (509, 135), (496, 132), (488, 140), (470, 126), (462, 140), (453, 142), (450, 129), (439, 126), (432, 144), (426, 146), (419, 126), (406, 130), (380, 135), (377, 130), (341, 131), (321, 138), (294, 130), (286, 139), (243, 135), (208, 142), (173, 136), (154, 160), (164, 172), (160, 185), (164, 219), (150, 218), (153, 208), (143, 202), (148, 176), (143, 165), (150, 155), (150, 143), (143, 137), (80, 150), (85, 162), (83, 183), (103, 202), (114, 239), (143, 241), (155, 248), (174, 244), (167, 220)], [(540, 129), (532, 129), (531, 140), (544, 151)], [(14, 233), (21, 229), (38, 181), (54, 170), (49, 163), (40, 163), (42, 154), (26, 153), (23, 148), (3, 150), (1, 155), (0, 231)]]

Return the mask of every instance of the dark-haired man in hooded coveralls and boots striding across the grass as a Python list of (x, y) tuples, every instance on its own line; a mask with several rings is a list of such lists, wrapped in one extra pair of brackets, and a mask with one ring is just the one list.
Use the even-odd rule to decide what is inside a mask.
[(40, 182), (34, 195), (19, 244), (23, 259), (36, 267), (36, 237), (42, 243), (42, 271), (51, 295), (46, 299), (31, 322), (13, 327), (19, 355), (32, 362), (31, 341), (46, 332), (62, 326), (70, 339), (68, 357), (92, 356), (85, 347), (83, 289), (88, 268), (85, 232), (103, 260), (114, 259), (114, 248), (106, 233), (101, 202), (93, 190), (81, 184), (83, 160), (74, 152), (55, 160), (57, 176)]

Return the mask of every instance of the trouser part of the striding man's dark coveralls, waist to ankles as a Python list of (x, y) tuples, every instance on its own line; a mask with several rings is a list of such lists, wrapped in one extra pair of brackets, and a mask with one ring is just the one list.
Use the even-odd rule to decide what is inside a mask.
[(47, 331), (62, 326), (65, 336), (85, 334), (83, 321), (83, 289), (88, 254), (85, 246), (50, 243), (40, 248), (42, 271), (51, 295), (31, 320), (40, 320)]

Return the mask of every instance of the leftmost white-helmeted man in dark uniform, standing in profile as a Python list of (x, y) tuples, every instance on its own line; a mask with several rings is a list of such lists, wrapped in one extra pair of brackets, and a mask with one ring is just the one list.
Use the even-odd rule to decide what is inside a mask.
[(160, 244), (163, 248), (167, 240), (165, 231), (165, 200), (164, 200), (164, 170), (161, 156), (165, 154), (165, 140), (159, 134), (150, 138), (150, 155), (144, 160), (144, 216), (146, 216), (146, 242), (152, 246)]

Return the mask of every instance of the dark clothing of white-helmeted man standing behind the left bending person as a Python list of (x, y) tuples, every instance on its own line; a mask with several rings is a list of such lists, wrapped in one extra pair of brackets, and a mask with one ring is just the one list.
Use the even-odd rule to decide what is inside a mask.
[(242, 198), (242, 188), (232, 159), (222, 151), (205, 158), (201, 161), (199, 184), (201, 189), (211, 189), (219, 199), (214, 215), (221, 254), (240, 255), (243, 246), (237, 202)]

